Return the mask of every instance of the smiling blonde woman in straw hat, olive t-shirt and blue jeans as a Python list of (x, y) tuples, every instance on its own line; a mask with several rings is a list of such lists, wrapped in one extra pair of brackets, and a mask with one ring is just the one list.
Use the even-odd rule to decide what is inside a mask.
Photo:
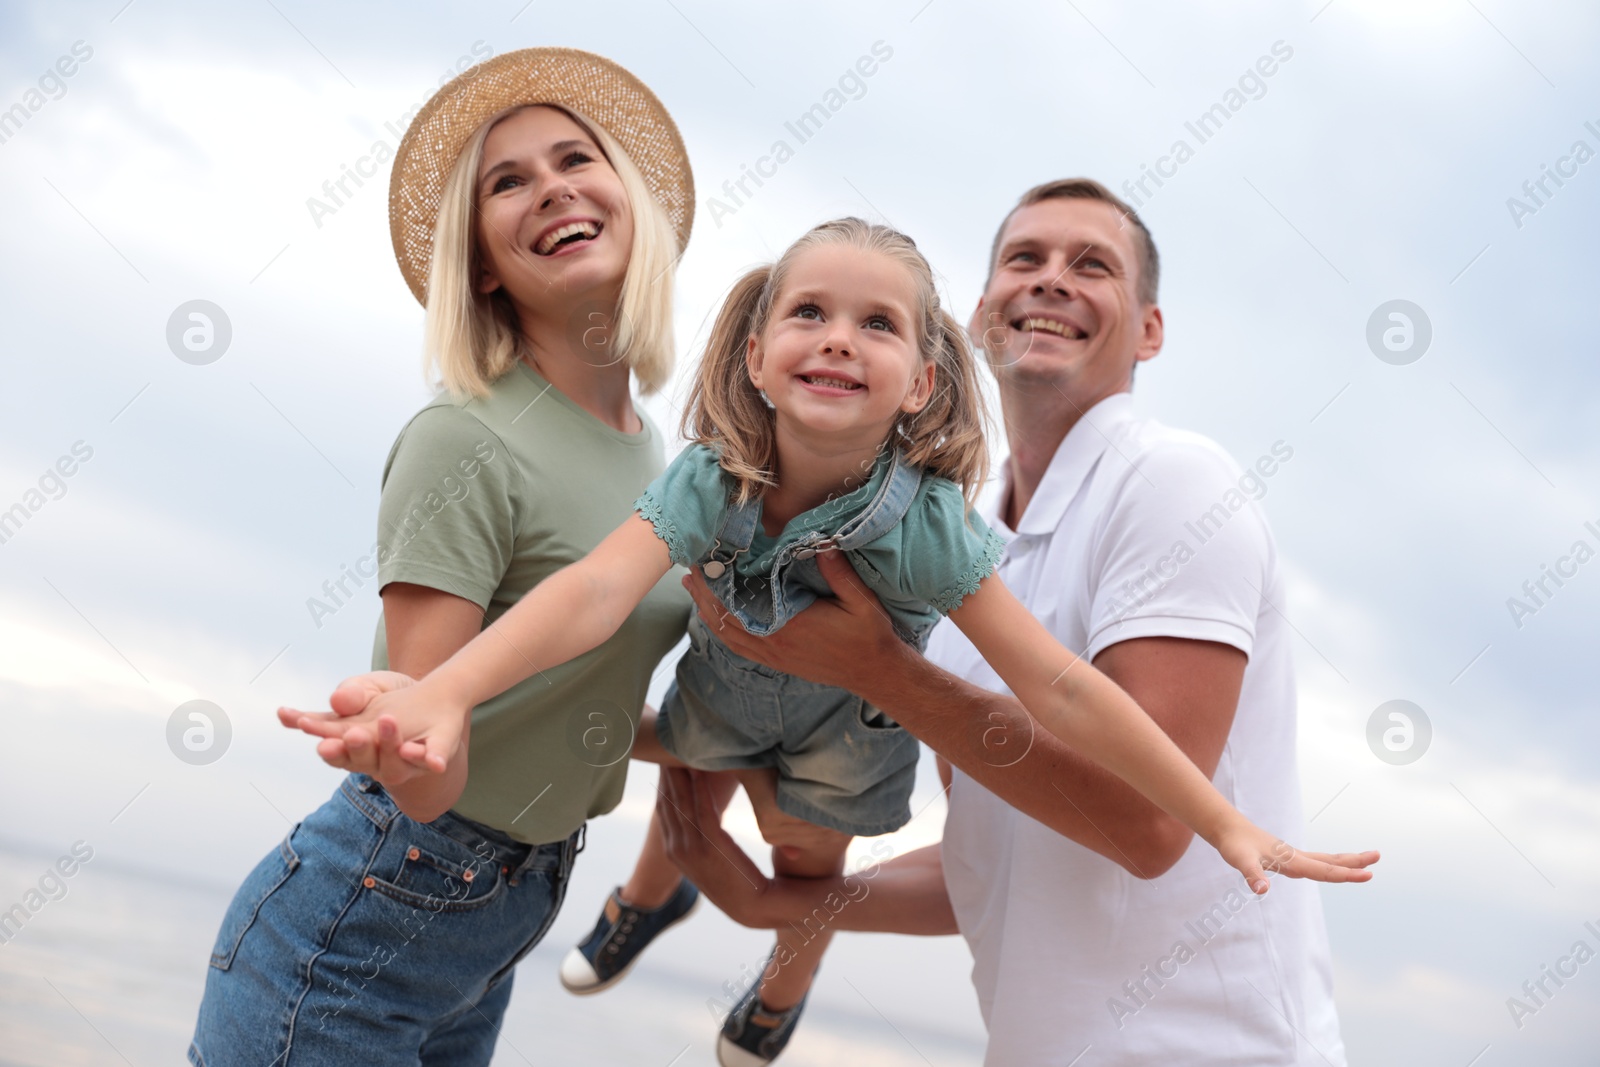
[[(374, 667), (427, 675), (594, 549), (661, 472), (630, 386), (656, 389), (672, 366), (691, 189), (672, 118), (587, 53), (490, 59), (419, 112), (390, 221), (445, 390), (384, 467)], [(470, 493), (450, 494), (458, 472)], [(488, 1064), (586, 821), (622, 795), (626, 760), (568, 745), (571, 712), (605, 707), (635, 729), (686, 617), (675, 581), (645, 590), (589, 656), (470, 709), (453, 774), (325, 741), (352, 774), (235, 894), (190, 1062)]]

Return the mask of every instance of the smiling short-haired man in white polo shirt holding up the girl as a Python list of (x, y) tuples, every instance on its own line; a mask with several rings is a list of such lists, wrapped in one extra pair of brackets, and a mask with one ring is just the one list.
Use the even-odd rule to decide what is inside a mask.
[[(998, 573), (1245, 816), (1301, 840), (1290, 630), (1254, 475), (1133, 411), (1134, 366), (1163, 342), (1158, 280), (1149, 230), (1098, 182), (1030, 189), (1002, 222), (970, 323), (1011, 446), (986, 514), (1008, 541)], [(1226, 515), (1203, 541), (1187, 530), (1202, 515)], [(859, 902), (848, 880), (766, 880), (726, 862), (704, 792), (669, 773), (672, 853), (712, 901), (766, 926), (843, 893), (837, 929), (958, 926), (994, 1065), (1344, 1064), (1309, 883), (1253, 897), (1186, 827), (1034, 728), (955, 627), (926, 659), (907, 651), (848, 563), (826, 560), (835, 600), (726, 641), (861, 694), (955, 765), (942, 849), (885, 864)]]

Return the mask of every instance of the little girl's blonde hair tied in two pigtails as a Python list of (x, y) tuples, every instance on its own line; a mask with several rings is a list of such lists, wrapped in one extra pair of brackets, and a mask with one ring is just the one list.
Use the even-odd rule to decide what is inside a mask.
[(688, 405), (683, 437), (717, 448), (722, 469), (738, 483), (738, 499), (747, 501), (776, 485), (776, 416), (750, 382), (746, 365), (749, 339), (766, 330), (773, 304), (784, 288), (795, 256), (822, 245), (845, 245), (878, 253), (910, 274), (917, 290), (917, 350), (934, 365), (933, 395), (915, 414), (901, 414), (888, 445), (928, 474), (962, 486), (971, 506), (989, 475), (984, 445), (987, 414), (978, 384), (978, 360), (962, 325), (939, 306), (933, 269), (917, 243), (888, 226), (846, 218), (822, 222), (778, 258), (734, 282), (717, 325), (712, 326)]

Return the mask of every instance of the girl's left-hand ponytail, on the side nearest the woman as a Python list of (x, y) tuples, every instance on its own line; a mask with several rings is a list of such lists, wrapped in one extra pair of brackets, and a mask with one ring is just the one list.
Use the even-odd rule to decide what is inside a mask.
[(720, 453), (722, 469), (739, 486), (739, 502), (776, 485), (773, 410), (746, 365), (750, 336), (762, 331), (771, 304), (771, 275), (773, 267), (757, 267), (733, 283), (683, 408), (683, 437)]

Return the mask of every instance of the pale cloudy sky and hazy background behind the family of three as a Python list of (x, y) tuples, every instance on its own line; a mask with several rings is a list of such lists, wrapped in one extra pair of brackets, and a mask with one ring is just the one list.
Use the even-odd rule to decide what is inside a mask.
[[(1520, 1029), (1506, 1003), (1576, 941), (1600, 949), (1584, 928), (1600, 926), (1600, 678), (1582, 651), (1600, 606), (1584, 310), (1600, 283), (1600, 11), (1578, 3), (0, 8), (0, 510), (26, 512), (0, 544), (16, 731), (0, 749), (0, 907), (74, 841), (96, 848), (75, 896), (24, 931), (34, 955), (22, 937), (0, 947), (8, 989), (53, 977), (70, 1003), (90, 961), (51, 952), (51, 931), (99, 929), (96, 878), (166, 885), (150, 915), (200, 931), (150, 1008), (174, 1022), (149, 1062), (170, 1062), (227, 893), (336, 781), (270, 710), (366, 664), (371, 585), (320, 627), (306, 600), (373, 542), (382, 459), (427, 392), (387, 171), (331, 214), (307, 200), (394, 146), (448, 72), (530, 45), (618, 59), (683, 131), (699, 203), (682, 366), (736, 272), (821, 219), (907, 230), (965, 314), (1018, 192), (1160, 171), (1133, 189), (1165, 261), (1168, 342), (1136, 400), (1240, 462), (1294, 450), (1262, 506), (1299, 633), (1306, 845), (1386, 853), (1371, 885), (1323, 893), (1350, 1059), (1592, 1061), (1600, 963)], [(784, 123), (875, 48), (890, 58), (797, 144)], [(1227, 118), (1202, 139), (1190, 126), (1216, 104)], [(794, 158), (728, 200), (723, 182), (778, 139)], [(168, 344), (195, 299), (230, 325), (206, 365)], [(648, 402), (664, 426), (680, 394)], [(203, 768), (166, 747), (190, 699), (232, 725)], [(1395, 699), (1432, 728), (1400, 766), (1368, 745)], [(650, 777), (595, 827), (587, 896), (574, 888), (552, 944), (621, 878)], [(939, 816), (907, 840), (936, 837)], [(200, 902), (173, 918), (181, 893)], [(726, 955), (710, 971), (755, 952), (731, 926), (714, 939)], [(819, 987), (835, 1030), (816, 1027), (798, 1059), (858, 1024), (894, 1046), (880, 1016), (909, 1035), (896, 1054), (981, 1048), (960, 941), (858, 945)], [(525, 981), (514, 1017), (565, 1009), (552, 989)], [(85, 1025), (115, 1040), (112, 1008), (82, 1000), (77, 1014), (51, 1001), (58, 1040), (112, 1057)]]

